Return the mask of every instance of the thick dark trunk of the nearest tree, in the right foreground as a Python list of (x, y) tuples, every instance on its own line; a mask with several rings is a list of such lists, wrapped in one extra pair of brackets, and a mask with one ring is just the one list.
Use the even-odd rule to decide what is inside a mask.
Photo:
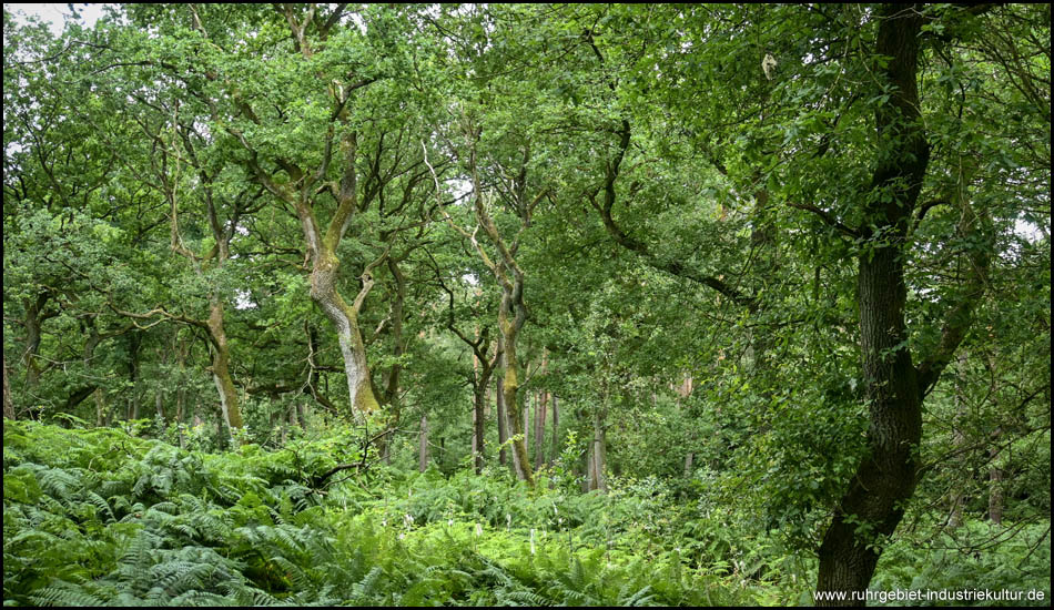
[[(881, 157), (872, 192), (861, 196), (866, 199), (866, 222), (882, 234), (859, 257), (857, 296), (871, 424), (866, 454), (819, 550), (817, 590), (844, 598), (818, 599), (821, 606), (862, 603), (852, 593), (871, 582), (881, 545), (900, 523), (918, 482), (922, 393), (908, 349), (902, 248), (929, 160), (915, 83), (921, 27), (922, 14), (914, 7), (886, 4), (880, 10), (875, 52), (892, 58), (881, 72), (894, 94), (875, 116)], [(872, 230), (863, 233), (873, 237)]]

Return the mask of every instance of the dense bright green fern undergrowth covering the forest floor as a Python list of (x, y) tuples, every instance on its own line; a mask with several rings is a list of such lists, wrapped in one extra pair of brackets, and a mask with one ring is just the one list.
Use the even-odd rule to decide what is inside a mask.
[[(4, 421), (4, 604), (811, 603), (809, 553), (660, 480), (584, 495), (545, 470), (535, 489), (504, 469), (326, 477), (361, 462), (352, 440), (203, 454), (120, 429)], [(1048, 582), (1050, 539), (1022, 540), (1012, 558), (976, 560), (899, 541), (875, 586), (1042, 581), (1044, 569)], [(993, 571), (1010, 559), (1027, 578)]]

